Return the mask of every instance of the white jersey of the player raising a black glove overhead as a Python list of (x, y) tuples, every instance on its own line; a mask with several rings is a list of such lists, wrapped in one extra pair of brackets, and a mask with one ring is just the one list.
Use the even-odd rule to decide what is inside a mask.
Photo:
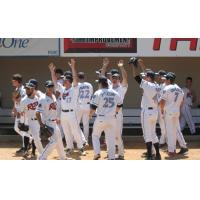
[(143, 89), (141, 108), (158, 108), (158, 84), (142, 79), (140, 87)]

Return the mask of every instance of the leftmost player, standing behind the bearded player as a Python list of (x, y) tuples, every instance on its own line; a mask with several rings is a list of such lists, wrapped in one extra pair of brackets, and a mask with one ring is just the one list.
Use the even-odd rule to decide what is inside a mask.
[(26, 90), (24, 86), (22, 85), (22, 75), (20, 74), (14, 74), (12, 76), (12, 85), (15, 87), (15, 91), (13, 93), (13, 102), (14, 107), (12, 110), (12, 115), (15, 117), (15, 124), (14, 124), (14, 130), (22, 136), (22, 147), (16, 151), (16, 153), (25, 153), (28, 151), (29, 148), (29, 139), (30, 136), (23, 131), (20, 131), (18, 128), (18, 124), (21, 121), (23, 121), (23, 118), (17, 118), (17, 112), (19, 112), (20, 102), (21, 99), (26, 96)]

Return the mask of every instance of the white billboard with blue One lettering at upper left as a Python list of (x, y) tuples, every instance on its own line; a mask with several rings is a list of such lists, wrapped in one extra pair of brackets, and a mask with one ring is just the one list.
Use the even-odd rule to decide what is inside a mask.
[(59, 56), (56, 38), (0, 38), (0, 56)]

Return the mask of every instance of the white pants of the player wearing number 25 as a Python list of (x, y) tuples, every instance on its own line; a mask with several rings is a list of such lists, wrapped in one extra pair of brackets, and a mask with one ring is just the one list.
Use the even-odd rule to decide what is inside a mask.
[(115, 126), (116, 118), (97, 117), (92, 133), (92, 144), (95, 155), (100, 154), (100, 137), (102, 132), (105, 132), (106, 144), (108, 148), (108, 159), (115, 159)]

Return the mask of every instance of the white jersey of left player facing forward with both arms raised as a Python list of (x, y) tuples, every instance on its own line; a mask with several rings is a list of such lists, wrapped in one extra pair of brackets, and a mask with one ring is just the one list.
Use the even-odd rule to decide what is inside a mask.
[(61, 95), (60, 107), (62, 110), (77, 109), (77, 102), (79, 96), (78, 86), (72, 86), (71, 88), (66, 89), (63, 85), (58, 83), (56, 90), (60, 92)]

